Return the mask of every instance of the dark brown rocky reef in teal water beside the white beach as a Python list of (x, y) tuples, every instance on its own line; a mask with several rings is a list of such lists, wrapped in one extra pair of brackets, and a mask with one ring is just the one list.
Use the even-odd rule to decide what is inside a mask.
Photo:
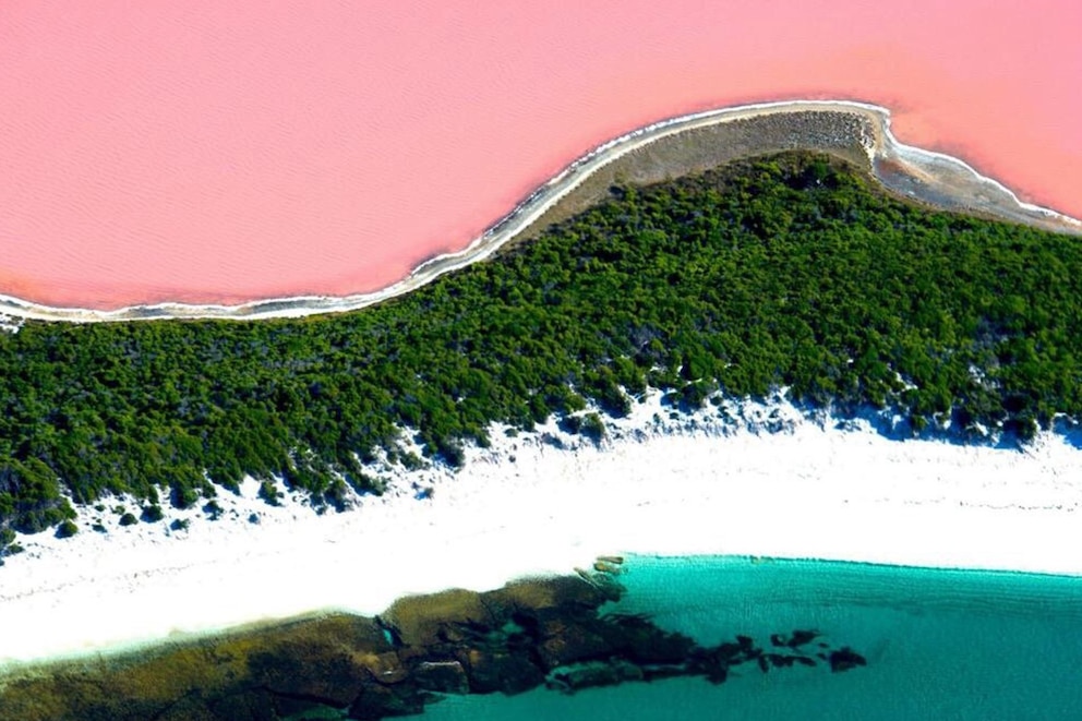
[(815, 630), (738, 635), (704, 647), (648, 616), (605, 609), (624, 593), (620, 558), (576, 576), (489, 592), (400, 599), (369, 618), (334, 615), (52, 664), (10, 676), (0, 718), (354, 719), (411, 716), (447, 694), (518, 694), (673, 676), (722, 683), (747, 665), (844, 672), (865, 664)]

